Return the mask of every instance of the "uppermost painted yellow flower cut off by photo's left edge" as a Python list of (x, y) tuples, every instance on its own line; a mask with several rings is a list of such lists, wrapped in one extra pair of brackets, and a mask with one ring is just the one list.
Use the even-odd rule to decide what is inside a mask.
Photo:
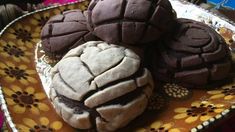
[(33, 53), (27, 52), (26, 48), (23, 46), (18, 46), (13, 42), (5, 42), (0, 40), (0, 56), (5, 58), (12, 58), (15, 62), (24, 61), (29, 63), (28, 57), (32, 56)]

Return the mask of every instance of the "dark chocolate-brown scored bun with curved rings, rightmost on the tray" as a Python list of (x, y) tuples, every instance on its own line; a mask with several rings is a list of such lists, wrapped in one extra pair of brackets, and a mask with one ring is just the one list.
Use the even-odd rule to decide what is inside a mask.
[(224, 39), (203, 23), (188, 19), (177, 22), (172, 36), (155, 48), (154, 76), (189, 88), (224, 82), (231, 70)]

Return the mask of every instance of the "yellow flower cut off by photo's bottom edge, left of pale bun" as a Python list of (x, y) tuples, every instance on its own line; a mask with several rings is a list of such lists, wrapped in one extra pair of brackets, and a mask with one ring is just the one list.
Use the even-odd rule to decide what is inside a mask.
[(40, 117), (39, 121), (34, 121), (30, 118), (23, 118), (23, 124), (16, 124), (20, 132), (54, 132), (63, 127), (62, 122), (49, 121), (47, 117)]

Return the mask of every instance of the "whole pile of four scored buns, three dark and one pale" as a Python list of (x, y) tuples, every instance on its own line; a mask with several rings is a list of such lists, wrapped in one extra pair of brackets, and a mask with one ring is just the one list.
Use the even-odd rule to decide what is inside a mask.
[(207, 25), (176, 18), (168, 0), (92, 0), (52, 17), (45, 54), (59, 60), (50, 98), (72, 127), (115, 131), (141, 115), (158, 82), (187, 88), (223, 83), (230, 51)]

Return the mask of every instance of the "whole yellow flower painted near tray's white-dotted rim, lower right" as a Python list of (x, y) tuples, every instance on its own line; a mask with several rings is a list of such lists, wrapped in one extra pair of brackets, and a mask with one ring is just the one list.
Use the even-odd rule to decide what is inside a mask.
[(213, 114), (221, 113), (224, 110), (223, 104), (212, 104), (208, 101), (196, 101), (191, 104), (191, 107), (180, 107), (174, 111), (177, 113), (174, 119), (185, 119), (186, 123), (193, 123), (198, 119), (206, 121), (212, 118)]

